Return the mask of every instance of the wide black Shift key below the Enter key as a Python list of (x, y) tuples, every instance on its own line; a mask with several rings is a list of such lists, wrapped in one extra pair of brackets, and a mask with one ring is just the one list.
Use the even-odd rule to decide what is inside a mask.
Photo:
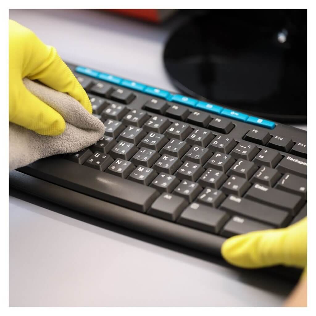
[(278, 228), (285, 227), (291, 219), (287, 211), (278, 210), (236, 195), (229, 195), (221, 204), (220, 209), (231, 216), (250, 218)]

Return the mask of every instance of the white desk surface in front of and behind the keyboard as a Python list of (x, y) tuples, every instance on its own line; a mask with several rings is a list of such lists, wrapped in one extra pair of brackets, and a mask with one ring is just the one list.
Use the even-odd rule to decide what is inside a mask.
[[(153, 26), (83, 10), (10, 10), (66, 60), (175, 91)], [(11, 191), (10, 306), (280, 306), (293, 285)]]

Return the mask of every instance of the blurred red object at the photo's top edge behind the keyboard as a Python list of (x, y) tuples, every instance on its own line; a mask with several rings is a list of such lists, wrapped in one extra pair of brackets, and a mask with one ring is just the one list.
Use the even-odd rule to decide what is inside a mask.
[(161, 23), (172, 15), (175, 9), (107, 9), (122, 15), (128, 15), (137, 19), (154, 23)]

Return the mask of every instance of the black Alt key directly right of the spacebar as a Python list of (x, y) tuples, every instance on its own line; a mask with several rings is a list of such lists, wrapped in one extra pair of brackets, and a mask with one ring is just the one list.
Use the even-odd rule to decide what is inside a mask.
[(170, 193), (162, 193), (151, 205), (147, 214), (174, 222), (188, 205), (183, 197)]

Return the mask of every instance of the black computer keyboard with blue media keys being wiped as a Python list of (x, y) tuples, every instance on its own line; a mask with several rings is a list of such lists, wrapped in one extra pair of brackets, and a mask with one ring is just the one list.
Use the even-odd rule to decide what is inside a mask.
[(306, 131), (68, 65), (106, 132), (10, 186), (216, 256), (228, 237), (307, 216)]

